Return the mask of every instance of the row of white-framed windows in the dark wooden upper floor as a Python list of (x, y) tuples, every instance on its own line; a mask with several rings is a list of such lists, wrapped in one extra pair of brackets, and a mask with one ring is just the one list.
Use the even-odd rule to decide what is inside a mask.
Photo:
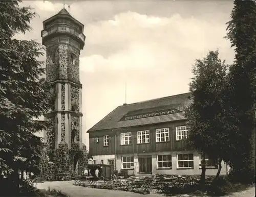
[[(176, 140), (182, 140), (187, 138), (188, 134), (188, 126), (181, 126), (176, 127)], [(121, 133), (121, 145), (129, 145), (132, 144), (132, 133)], [(137, 132), (137, 143), (150, 143), (150, 131), (138, 131)], [(165, 142), (169, 141), (169, 128), (163, 128), (163, 129), (156, 129), (156, 142)], [(96, 142), (99, 142), (99, 138), (97, 137)], [(103, 145), (108, 146), (109, 145), (109, 136), (105, 135), (103, 137)]]

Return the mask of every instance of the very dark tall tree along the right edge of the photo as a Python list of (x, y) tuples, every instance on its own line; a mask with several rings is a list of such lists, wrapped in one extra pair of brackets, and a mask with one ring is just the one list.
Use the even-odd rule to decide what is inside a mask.
[(256, 5), (250, 0), (234, 1), (227, 38), (234, 47), (235, 61), (229, 73), (230, 131), (229, 163), (237, 181), (255, 181), (255, 66)]

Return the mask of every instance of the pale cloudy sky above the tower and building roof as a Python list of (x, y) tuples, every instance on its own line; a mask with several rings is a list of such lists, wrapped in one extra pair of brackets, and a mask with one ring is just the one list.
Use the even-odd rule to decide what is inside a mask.
[[(65, 1), (84, 24), (80, 55), (83, 85), (83, 142), (86, 131), (114, 108), (188, 92), (196, 59), (219, 48), (233, 61), (226, 35), (232, 1)], [(24, 1), (38, 14), (32, 31), (19, 39), (41, 42), (42, 21), (63, 8), (63, 1)], [(70, 9), (68, 9), (70, 5)], [(42, 57), (45, 59), (45, 57)]]

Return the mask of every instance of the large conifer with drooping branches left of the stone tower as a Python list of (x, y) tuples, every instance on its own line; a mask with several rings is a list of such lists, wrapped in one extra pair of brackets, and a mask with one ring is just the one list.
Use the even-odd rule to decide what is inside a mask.
[(20, 2), (0, 1), (0, 175), (13, 184), (13, 192), (19, 188), (19, 170), (38, 174), (42, 143), (34, 134), (47, 123), (35, 119), (49, 108), (43, 62), (37, 61), (44, 48), (32, 40), (13, 39), (31, 29), (35, 16), (30, 7), (19, 7)]

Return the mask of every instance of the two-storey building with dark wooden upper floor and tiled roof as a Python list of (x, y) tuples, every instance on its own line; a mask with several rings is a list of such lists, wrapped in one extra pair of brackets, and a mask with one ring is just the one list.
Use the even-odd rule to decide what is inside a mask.
[[(89, 152), (96, 163), (114, 164), (129, 174), (201, 174), (201, 156), (185, 140), (189, 125), (184, 110), (189, 93), (124, 104), (88, 130)], [(206, 175), (218, 167), (206, 157)], [(226, 174), (222, 164), (221, 174)]]

